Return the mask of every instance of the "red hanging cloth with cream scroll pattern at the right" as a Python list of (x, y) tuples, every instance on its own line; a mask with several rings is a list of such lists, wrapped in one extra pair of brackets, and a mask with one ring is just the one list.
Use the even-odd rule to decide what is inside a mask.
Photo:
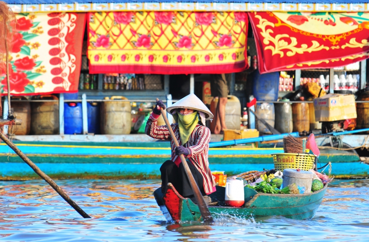
[(369, 52), (369, 13), (248, 13), (260, 73), (332, 68)]

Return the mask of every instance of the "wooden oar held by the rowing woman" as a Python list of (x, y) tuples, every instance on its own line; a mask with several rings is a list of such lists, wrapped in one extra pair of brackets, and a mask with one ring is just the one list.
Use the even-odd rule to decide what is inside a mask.
[[(156, 98), (156, 102), (157, 101), (159, 101), (158, 98)], [(177, 138), (174, 135), (174, 132), (172, 130), (172, 127), (170, 126), (170, 123), (169, 123), (169, 121), (167, 119), (167, 111), (165, 111), (163, 108), (160, 108), (160, 111), (161, 111), (161, 114), (163, 116), (163, 119), (164, 119), (165, 123), (167, 124), (168, 130), (169, 130), (169, 133), (170, 133), (170, 136), (172, 137), (172, 140), (173, 140), (175, 146), (176, 147), (179, 147)], [(196, 198), (197, 205), (199, 206), (199, 210), (200, 210), (201, 216), (202, 216), (202, 218), (203, 218), (203, 220), (204, 220), (205, 223), (212, 223), (213, 222), (213, 217), (211, 216), (211, 213), (209, 211), (209, 208), (206, 206), (205, 200), (204, 200), (204, 198), (201, 195), (199, 186), (197, 185), (195, 179), (193, 178), (193, 175), (191, 173), (191, 170), (190, 170), (190, 168), (187, 165), (187, 162), (185, 160), (185, 156), (183, 154), (180, 154), (180, 158), (181, 158), (181, 161), (182, 161), (183, 166), (185, 167), (185, 172), (186, 172), (186, 175), (187, 175), (188, 180), (190, 181), (191, 188), (192, 188), (192, 191), (193, 191), (194, 196)]]

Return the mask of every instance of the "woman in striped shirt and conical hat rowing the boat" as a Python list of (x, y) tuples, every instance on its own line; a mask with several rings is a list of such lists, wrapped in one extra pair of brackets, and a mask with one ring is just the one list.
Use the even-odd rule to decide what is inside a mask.
[(194, 193), (185, 174), (180, 154), (185, 155), (191, 173), (198, 184), (205, 202), (210, 202), (207, 195), (216, 191), (215, 181), (208, 162), (210, 130), (205, 126), (205, 120), (214, 116), (195, 94), (189, 94), (174, 105), (167, 108), (176, 123), (171, 124), (179, 147), (175, 147), (166, 125), (157, 126), (160, 108), (166, 109), (163, 101), (157, 101), (146, 124), (145, 133), (156, 139), (170, 140), (172, 150), (171, 160), (160, 167), (162, 192), (167, 190), (168, 182), (172, 183), (179, 194), (188, 197), (195, 203)]

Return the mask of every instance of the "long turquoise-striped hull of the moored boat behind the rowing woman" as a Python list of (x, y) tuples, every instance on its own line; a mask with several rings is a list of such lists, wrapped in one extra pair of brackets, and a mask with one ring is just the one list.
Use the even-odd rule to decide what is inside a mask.
[[(19, 142), (23, 151), (37, 166), (53, 179), (158, 179), (160, 166), (170, 159), (168, 142)], [(211, 170), (239, 174), (247, 170), (274, 167), (271, 153), (283, 152), (273, 148), (211, 148)], [(369, 165), (355, 153), (324, 150), (320, 165), (332, 162), (335, 178), (367, 178)], [(142, 166), (145, 169), (142, 169)], [(328, 168), (325, 172), (328, 171)], [(4, 143), (0, 143), (0, 180), (39, 179)]]

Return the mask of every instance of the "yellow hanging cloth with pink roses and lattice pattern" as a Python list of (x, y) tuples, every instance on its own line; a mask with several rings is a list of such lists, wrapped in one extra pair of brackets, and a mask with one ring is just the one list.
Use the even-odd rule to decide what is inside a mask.
[(89, 72), (238, 72), (247, 67), (247, 27), (237, 12), (88, 13)]

